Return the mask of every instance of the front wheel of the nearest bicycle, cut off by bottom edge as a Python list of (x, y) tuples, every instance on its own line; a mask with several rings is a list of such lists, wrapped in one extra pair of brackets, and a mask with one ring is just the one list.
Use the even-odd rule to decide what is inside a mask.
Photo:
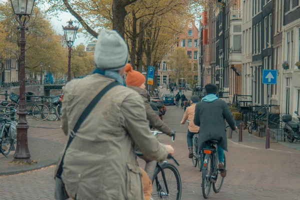
[[(165, 175), (164, 182), (160, 168), (156, 167), (152, 178), (152, 199), (175, 199), (181, 198), (181, 178), (178, 169), (171, 163), (162, 164)], [(166, 191), (166, 186), (168, 192)]]

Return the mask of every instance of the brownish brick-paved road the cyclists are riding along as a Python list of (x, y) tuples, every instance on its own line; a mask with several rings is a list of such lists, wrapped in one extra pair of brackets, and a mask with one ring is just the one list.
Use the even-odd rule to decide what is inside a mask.
[[(183, 110), (167, 106), (163, 120), (177, 131), (172, 143), (175, 157), (180, 163), (178, 170), (182, 179), (181, 199), (203, 199), (201, 174), (187, 158), (186, 125), (179, 125)], [(59, 130), (44, 129), (31, 136), (63, 142), (64, 134)], [(53, 134), (51, 134), (53, 133)], [(30, 134), (30, 133), (29, 133)], [(159, 139), (171, 143), (166, 135)], [(253, 142), (252, 142), (253, 143)], [(248, 143), (248, 144), (252, 144)], [(259, 145), (259, 144), (256, 144)], [(250, 148), (228, 141), (226, 152), (227, 176), (221, 191), (211, 194), (209, 199), (300, 199), (300, 151), (285, 152)], [(17, 175), (0, 177), (0, 199), (54, 199), (54, 166)]]

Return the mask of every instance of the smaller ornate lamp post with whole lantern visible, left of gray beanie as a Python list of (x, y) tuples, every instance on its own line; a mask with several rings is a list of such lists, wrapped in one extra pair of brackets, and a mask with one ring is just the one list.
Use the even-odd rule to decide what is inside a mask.
[(62, 29), (64, 31), (65, 41), (67, 43), (68, 50), (69, 50), (68, 66), (67, 66), (67, 81), (69, 81), (71, 79), (71, 49), (74, 44), (78, 27), (73, 26), (73, 21), (70, 19), (66, 26), (62, 25)]

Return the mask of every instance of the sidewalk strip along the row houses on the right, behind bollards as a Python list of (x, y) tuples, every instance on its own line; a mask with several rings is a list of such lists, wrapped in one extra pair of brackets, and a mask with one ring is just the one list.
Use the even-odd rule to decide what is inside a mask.
[[(252, 147), (252, 148), (263, 148), (265, 149), (265, 137), (257, 137), (253, 134), (249, 134), (247, 130), (242, 130), (242, 142), (238, 142), (238, 131), (239, 129), (232, 131), (232, 138), (228, 139), (234, 144), (243, 145), (244, 147)], [(229, 133), (229, 128), (227, 128), (227, 136)], [(295, 148), (293, 145), (289, 145), (289, 142), (272, 142), (270, 140), (270, 149), (277, 151), (286, 151), (286, 152), (298, 152), (300, 153), (300, 149)]]

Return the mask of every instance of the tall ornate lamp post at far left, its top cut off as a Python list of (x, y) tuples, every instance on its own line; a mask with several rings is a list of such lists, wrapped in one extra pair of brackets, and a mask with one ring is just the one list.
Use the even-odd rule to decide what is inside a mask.
[(30, 19), (30, 15), (32, 13), (33, 5), (35, 0), (10, 0), (13, 13), (15, 14), (15, 18), (20, 24), (17, 28), (20, 30), (20, 79), (19, 79), (19, 111), (17, 114), (19, 115), (19, 120), (16, 125), (17, 129), (17, 140), (16, 140), (16, 150), (13, 155), (15, 161), (29, 161), (30, 153), (28, 149), (27, 142), (27, 131), (28, 124), (26, 120), (26, 101), (25, 101), (25, 24)]

